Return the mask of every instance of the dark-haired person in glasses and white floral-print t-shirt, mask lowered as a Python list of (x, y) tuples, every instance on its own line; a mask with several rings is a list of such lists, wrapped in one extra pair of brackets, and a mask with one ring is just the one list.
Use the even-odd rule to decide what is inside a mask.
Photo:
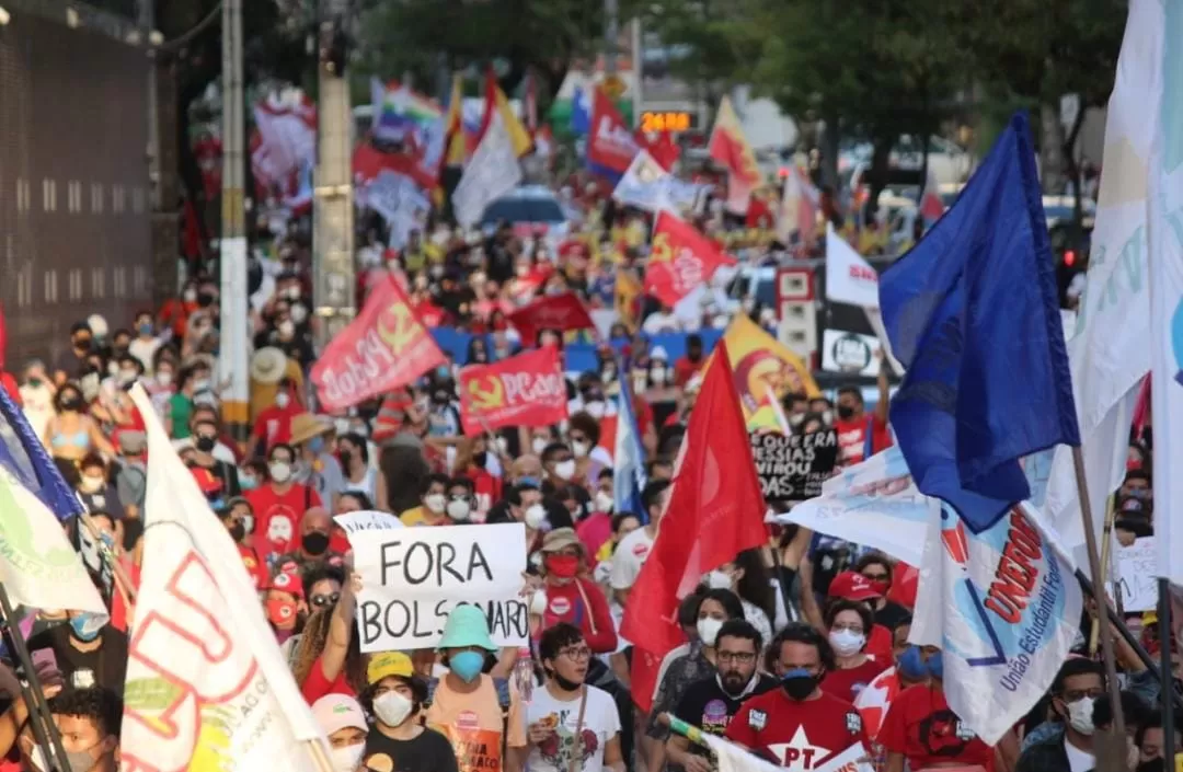
[(538, 659), (547, 683), (535, 690), (526, 712), (530, 772), (625, 772), (616, 702), (584, 683), (592, 649), (580, 629), (560, 622), (543, 630)]

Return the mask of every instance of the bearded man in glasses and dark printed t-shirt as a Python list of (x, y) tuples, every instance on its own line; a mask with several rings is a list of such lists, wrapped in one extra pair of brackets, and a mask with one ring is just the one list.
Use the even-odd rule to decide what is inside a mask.
[[(692, 683), (674, 708), (674, 716), (723, 737), (743, 701), (775, 688), (776, 679), (756, 672), (763, 641), (746, 619), (724, 622), (715, 646), (718, 673)], [(680, 734), (671, 734), (666, 740), (666, 758), (671, 770), (711, 772), (713, 768), (709, 751)]]

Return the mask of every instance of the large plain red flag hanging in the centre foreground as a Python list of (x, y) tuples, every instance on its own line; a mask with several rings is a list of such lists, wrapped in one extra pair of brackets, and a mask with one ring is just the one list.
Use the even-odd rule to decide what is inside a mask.
[[(658, 661), (683, 640), (678, 601), (704, 573), (763, 545), (764, 499), (748, 428), (731, 376), (726, 343), (706, 370), (690, 414), (667, 514), (636, 577), (620, 634)], [(635, 657), (634, 657), (635, 661)], [(636, 695), (636, 699), (648, 695)]]

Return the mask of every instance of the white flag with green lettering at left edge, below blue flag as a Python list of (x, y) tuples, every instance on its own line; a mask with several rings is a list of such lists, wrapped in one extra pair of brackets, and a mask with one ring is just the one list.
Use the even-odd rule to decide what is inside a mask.
[(104, 622), (108, 618), (98, 588), (86, 573), (82, 557), (70, 546), (62, 524), (2, 466), (0, 582), (13, 605), (91, 611)]

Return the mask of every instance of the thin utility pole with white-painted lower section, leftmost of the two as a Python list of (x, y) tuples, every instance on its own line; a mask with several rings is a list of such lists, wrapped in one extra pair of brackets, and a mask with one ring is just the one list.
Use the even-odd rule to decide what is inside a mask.
[(222, 420), (235, 440), (250, 429), (246, 298), (245, 116), (243, 93), (243, 0), (222, 0), (222, 218), (221, 218), (221, 339), (218, 372), (222, 389)]

